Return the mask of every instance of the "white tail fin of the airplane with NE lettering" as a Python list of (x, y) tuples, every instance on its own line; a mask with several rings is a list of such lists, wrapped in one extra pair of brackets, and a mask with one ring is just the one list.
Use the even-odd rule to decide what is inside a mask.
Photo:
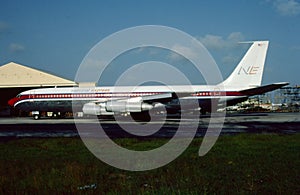
[(231, 73), (221, 84), (226, 88), (242, 90), (261, 85), (265, 59), (269, 41), (254, 41), (247, 53)]

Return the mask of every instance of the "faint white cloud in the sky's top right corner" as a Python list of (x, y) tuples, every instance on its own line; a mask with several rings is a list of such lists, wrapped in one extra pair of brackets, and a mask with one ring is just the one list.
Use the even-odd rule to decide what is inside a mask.
[(274, 0), (275, 10), (282, 16), (297, 16), (300, 14), (300, 3), (295, 0)]

